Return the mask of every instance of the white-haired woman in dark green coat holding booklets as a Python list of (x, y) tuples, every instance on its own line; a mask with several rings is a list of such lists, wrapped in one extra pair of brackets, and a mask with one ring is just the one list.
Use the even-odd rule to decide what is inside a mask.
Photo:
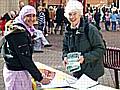
[[(103, 56), (105, 46), (95, 26), (86, 24), (83, 18), (83, 5), (77, 0), (70, 0), (65, 7), (65, 16), (70, 22), (63, 39), (63, 64), (73, 76), (80, 78), (86, 74), (97, 81), (104, 74)], [(87, 25), (87, 26), (86, 26)], [(85, 31), (87, 31), (87, 34)], [(81, 53), (74, 62), (79, 62), (80, 68), (71, 69), (69, 55)], [(69, 55), (68, 55), (69, 54)], [(71, 60), (74, 58), (72, 57)]]

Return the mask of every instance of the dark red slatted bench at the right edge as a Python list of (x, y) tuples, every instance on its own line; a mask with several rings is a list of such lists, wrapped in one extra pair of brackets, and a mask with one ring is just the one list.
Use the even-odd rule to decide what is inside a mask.
[(115, 87), (119, 89), (118, 71), (120, 71), (120, 48), (107, 47), (103, 63), (105, 68), (114, 70)]

